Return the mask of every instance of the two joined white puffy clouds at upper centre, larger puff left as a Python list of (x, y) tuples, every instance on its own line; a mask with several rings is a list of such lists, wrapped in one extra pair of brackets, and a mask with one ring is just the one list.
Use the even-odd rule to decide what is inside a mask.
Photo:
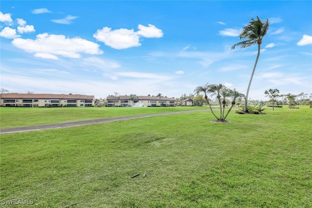
[(134, 29), (120, 28), (112, 30), (112, 28), (103, 27), (98, 29), (93, 37), (112, 48), (126, 49), (140, 46), (140, 36), (145, 38), (161, 38), (163, 36), (162, 31), (151, 24), (148, 24), (148, 27), (139, 24), (138, 28), (139, 31), (135, 32)]

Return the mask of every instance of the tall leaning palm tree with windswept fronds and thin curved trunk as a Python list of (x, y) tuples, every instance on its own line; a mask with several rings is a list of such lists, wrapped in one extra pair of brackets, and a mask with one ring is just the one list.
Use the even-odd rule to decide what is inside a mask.
[(251, 19), (249, 21), (249, 24), (243, 27), (243, 32), (239, 35), (239, 39), (242, 38), (248, 38), (247, 40), (244, 40), (242, 42), (236, 43), (235, 45), (232, 46), (231, 49), (234, 49), (236, 46), (240, 46), (241, 48), (248, 48), (249, 46), (258, 44), (258, 54), (254, 62), (254, 69), (252, 72), (252, 75), (249, 80), (248, 88), (247, 88), (247, 93), (246, 93), (246, 98), (245, 98), (245, 112), (248, 112), (247, 110), (247, 100), (248, 100), (248, 94), (249, 94), (249, 89), (250, 85), (253, 80), (254, 76), (254, 70), (257, 66), (257, 62), (260, 56), (260, 46), (262, 43), (263, 37), (267, 34), (267, 31), (269, 29), (269, 19), (266, 19), (265, 22), (263, 22), (261, 19), (258, 17), (256, 19)]

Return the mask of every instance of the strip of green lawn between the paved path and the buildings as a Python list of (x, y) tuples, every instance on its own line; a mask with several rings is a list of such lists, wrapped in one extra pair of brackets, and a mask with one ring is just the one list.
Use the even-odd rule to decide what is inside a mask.
[(141, 114), (166, 113), (188, 110), (203, 110), (208, 107), (162, 107), (162, 108), (0, 108), (0, 128), (13, 128), (82, 121), (99, 118), (112, 118)]

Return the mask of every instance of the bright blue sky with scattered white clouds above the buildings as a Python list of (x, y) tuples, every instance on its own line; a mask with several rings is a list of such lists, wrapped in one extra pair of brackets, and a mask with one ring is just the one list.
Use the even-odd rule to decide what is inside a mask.
[(257, 16), (270, 28), (249, 98), (312, 93), (312, 1), (0, 2), (0, 87), (11, 93), (180, 97), (206, 83), (246, 94), (257, 46), (231, 46)]

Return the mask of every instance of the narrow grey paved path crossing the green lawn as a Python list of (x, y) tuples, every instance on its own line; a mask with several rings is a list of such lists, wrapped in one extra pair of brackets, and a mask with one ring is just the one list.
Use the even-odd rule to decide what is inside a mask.
[(106, 123), (106, 122), (112, 122), (112, 121), (130, 120), (130, 119), (136, 119), (136, 118), (147, 118), (147, 117), (152, 117), (152, 116), (171, 115), (171, 114), (177, 114), (177, 113), (193, 113), (193, 112), (202, 112), (202, 111), (210, 111), (210, 110), (177, 111), (177, 112), (156, 113), (156, 114), (148, 114), (148, 115), (135, 115), (135, 116), (127, 116), (127, 117), (102, 118), (102, 119), (75, 121), (75, 122), (58, 123), (58, 124), (45, 124), (45, 125), (39, 125), (39, 126), (17, 127), (17, 128), (0, 129), (0, 133), (1, 134), (2, 133), (17, 133), (17, 132), (39, 131), (39, 130), (45, 130), (45, 129), (67, 128), (67, 127), (74, 127), (74, 126), (81, 126), (81, 125)]

